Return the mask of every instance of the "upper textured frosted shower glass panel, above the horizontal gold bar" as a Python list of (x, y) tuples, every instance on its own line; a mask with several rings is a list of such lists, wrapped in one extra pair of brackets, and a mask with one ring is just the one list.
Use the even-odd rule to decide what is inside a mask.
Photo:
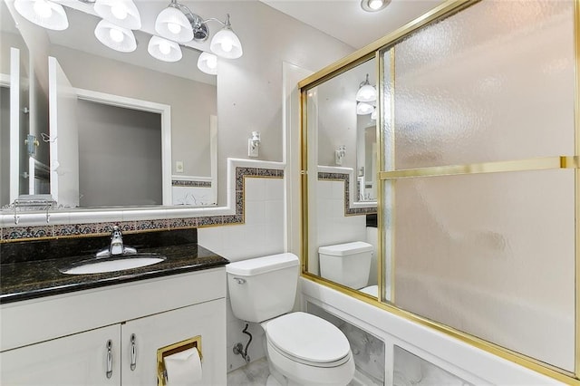
[(396, 43), (395, 169), (574, 154), (573, 3), (483, 1)]

